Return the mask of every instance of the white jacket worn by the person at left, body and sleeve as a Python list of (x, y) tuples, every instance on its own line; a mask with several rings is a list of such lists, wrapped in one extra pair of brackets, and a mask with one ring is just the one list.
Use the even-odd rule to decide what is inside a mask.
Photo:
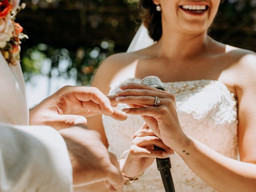
[(0, 53), (0, 192), (70, 192), (72, 166), (58, 132), (28, 126), (20, 63), (9, 66)]

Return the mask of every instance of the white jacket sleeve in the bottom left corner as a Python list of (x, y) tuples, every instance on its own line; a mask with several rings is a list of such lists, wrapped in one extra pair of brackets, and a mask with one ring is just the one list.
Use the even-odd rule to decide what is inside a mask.
[(70, 192), (72, 165), (48, 126), (0, 124), (0, 192)]

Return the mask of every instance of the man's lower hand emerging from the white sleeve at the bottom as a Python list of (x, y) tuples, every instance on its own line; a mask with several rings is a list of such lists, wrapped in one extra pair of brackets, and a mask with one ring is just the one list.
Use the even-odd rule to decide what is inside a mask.
[[(83, 127), (83, 128), (82, 128)], [(81, 124), (58, 132), (64, 138), (73, 168), (74, 186), (105, 180), (110, 191), (120, 191), (123, 177), (116, 157), (109, 153), (100, 134)]]

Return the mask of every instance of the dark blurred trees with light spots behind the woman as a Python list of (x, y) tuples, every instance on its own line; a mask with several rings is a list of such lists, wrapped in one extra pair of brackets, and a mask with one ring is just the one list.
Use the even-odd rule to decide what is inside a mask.
[[(36, 73), (74, 77), (89, 84), (100, 62), (128, 48), (136, 28), (138, 0), (22, 0), (18, 15), (29, 40), (22, 44), (26, 80)], [(210, 35), (256, 51), (256, 0), (226, 0)]]

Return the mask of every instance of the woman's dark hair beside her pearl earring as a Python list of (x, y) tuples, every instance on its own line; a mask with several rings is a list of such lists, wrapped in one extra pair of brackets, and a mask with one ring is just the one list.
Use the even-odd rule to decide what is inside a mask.
[[(224, 0), (221, 0), (221, 3)], [(140, 0), (141, 17), (144, 26), (148, 29), (149, 36), (154, 40), (160, 40), (162, 36), (162, 16), (156, 10), (152, 0)]]

